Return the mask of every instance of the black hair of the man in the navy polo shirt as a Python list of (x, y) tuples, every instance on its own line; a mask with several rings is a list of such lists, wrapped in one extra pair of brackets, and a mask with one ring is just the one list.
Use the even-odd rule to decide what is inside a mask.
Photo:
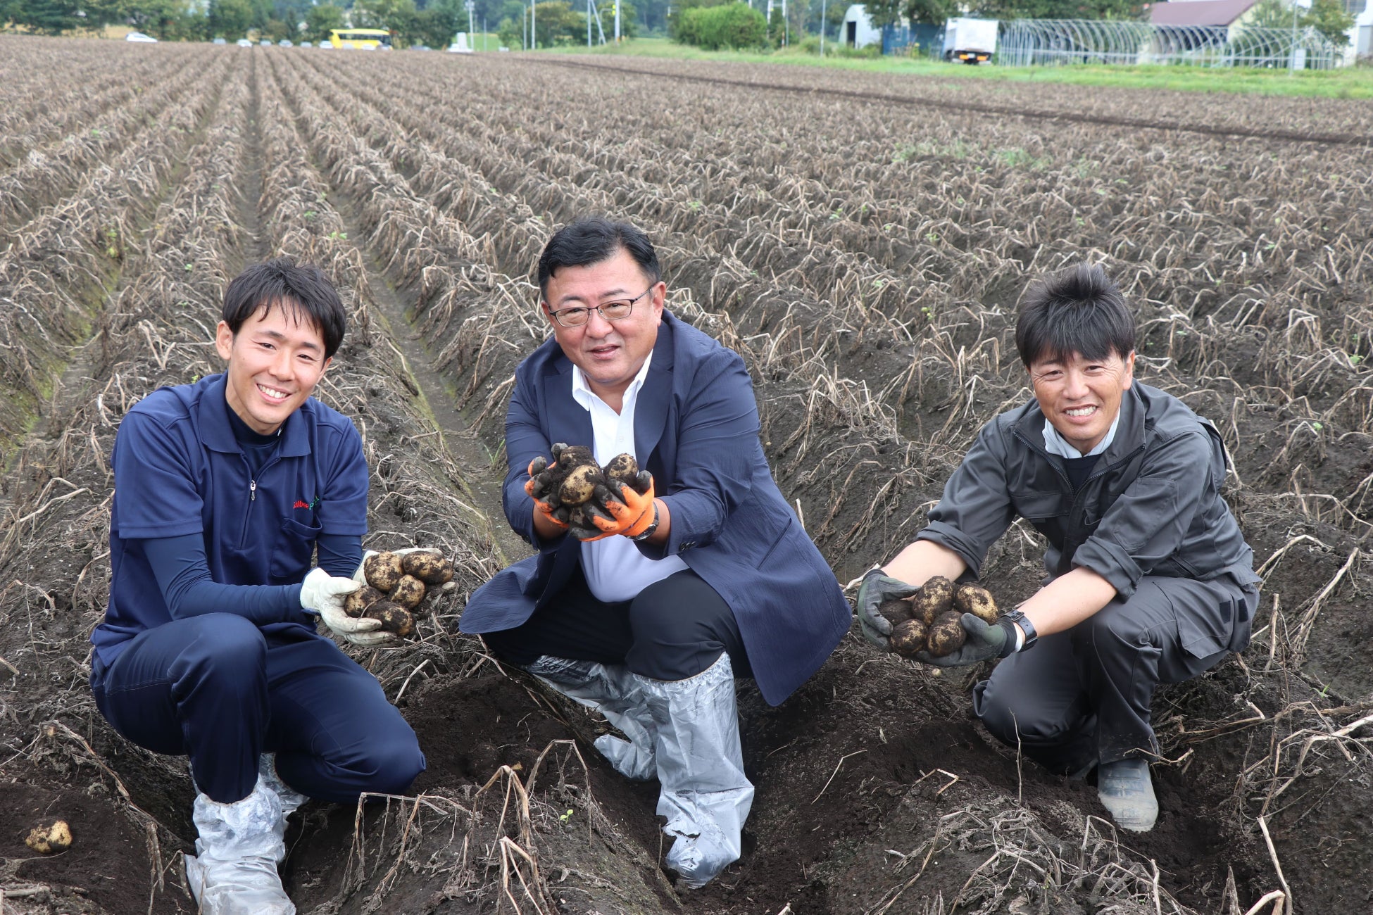
[(220, 318), (238, 335), (244, 321), (254, 314), (265, 316), (273, 306), (297, 309), (320, 329), (325, 359), (338, 353), (347, 329), (347, 310), (324, 270), (291, 258), (254, 263), (233, 277), (224, 291)]

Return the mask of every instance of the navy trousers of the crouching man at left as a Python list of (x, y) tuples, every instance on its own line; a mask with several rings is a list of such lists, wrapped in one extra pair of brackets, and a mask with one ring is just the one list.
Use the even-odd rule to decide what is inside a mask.
[(91, 689), (110, 724), (155, 753), (191, 757), (213, 801), (240, 801), (258, 754), (295, 790), (351, 804), (401, 794), (424, 771), (415, 731), (376, 678), (330, 639), (264, 635), (232, 613), (173, 620), (133, 638)]

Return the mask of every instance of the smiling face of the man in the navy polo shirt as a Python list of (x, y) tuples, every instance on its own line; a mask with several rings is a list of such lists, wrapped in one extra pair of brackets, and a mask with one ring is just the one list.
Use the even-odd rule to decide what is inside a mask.
[(228, 361), (224, 396), (258, 435), (270, 435), (310, 396), (331, 359), (324, 335), (297, 307), (275, 303), (235, 333), (220, 321), (214, 348)]

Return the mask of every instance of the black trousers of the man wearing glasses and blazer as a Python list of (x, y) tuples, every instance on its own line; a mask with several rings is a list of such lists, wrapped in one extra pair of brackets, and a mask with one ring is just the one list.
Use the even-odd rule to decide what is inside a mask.
[(735, 676), (752, 676), (733, 610), (691, 569), (654, 582), (632, 601), (605, 604), (578, 567), (562, 593), (524, 623), (482, 638), (497, 657), (519, 665), (552, 654), (623, 664), (655, 680), (685, 680), (728, 652)]

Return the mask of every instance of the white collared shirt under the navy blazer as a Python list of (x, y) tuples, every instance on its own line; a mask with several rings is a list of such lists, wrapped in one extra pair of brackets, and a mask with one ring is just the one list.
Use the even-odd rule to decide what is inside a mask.
[[(592, 453), (601, 466), (616, 454), (626, 453), (633, 454), (643, 466), (645, 455), (634, 453), (634, 407), (652, 361), (654, 354), (649, 353), (634, 380), (625, 388), (619, 413), (601, 401), (586, 385), (582, 370), (573, 366), (573, 399), (592, 414)], [(607, 536), (603, 540), (582, 543), (582, 573), (586, 576), (586, 584), (596, 599), (607, 604), (632, 601), (654, 582), (686, 568), (689, 567), (678, 556), (648, 558), (627, 536)]]

